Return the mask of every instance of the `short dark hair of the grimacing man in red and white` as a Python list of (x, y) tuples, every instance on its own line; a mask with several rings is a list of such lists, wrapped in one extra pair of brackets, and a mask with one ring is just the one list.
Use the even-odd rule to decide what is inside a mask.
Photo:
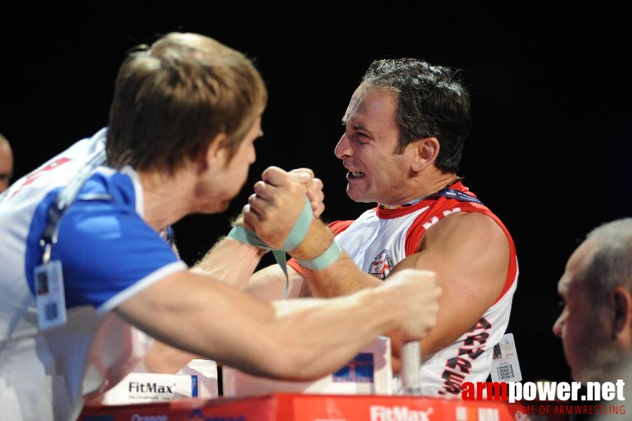
[(375, 60), (362, 84), (397, 93), (401, 135), (396, 152), (414, 140), (435, 137), (441, 145), (435, 165), (444, 173), (457, 172), (471, 116), (469, 93), (455, 70), (414, 58)]

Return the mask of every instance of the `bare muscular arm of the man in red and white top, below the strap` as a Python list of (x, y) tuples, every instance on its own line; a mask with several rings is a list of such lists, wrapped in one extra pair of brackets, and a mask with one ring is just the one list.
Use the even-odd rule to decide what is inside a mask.
[[(344, 265), (349, 259), (344, 256), (325, 270), (304, 269), (314, 296), (335, 297), (382, 283), (355, 265)], [(436, 272), (443, 290), (437, 324), (421, 342), (422, 355), (433, 354), (454, 342), (483, 316), (501, 293), (508, 266), (506, 236), (494, 220), (482, 213), (448, 215), (428, 229), (419, 252), (391, 272), (392, 276), (405, 268), (429, 269)], [(398, 338), (391, 339), (397, 369), (401, 344)]]

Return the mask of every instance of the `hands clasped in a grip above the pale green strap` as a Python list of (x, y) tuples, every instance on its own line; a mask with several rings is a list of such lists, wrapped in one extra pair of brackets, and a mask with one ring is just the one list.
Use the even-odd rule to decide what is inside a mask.
[(248, 205), (243, 208), (244, 221), (268, 246), (281, 248), (303, 210), (310, 183), (313, 183), (311, 192), (315, 199), (308, 196), (310, 202), (318, 202), (321, 198), (314, 180), (314, 173), (307, 168), (294, 173), (275, 166), (267, 168), (262, 173), (262, 181), (255, 183), (255, 193), (248, 198)]

